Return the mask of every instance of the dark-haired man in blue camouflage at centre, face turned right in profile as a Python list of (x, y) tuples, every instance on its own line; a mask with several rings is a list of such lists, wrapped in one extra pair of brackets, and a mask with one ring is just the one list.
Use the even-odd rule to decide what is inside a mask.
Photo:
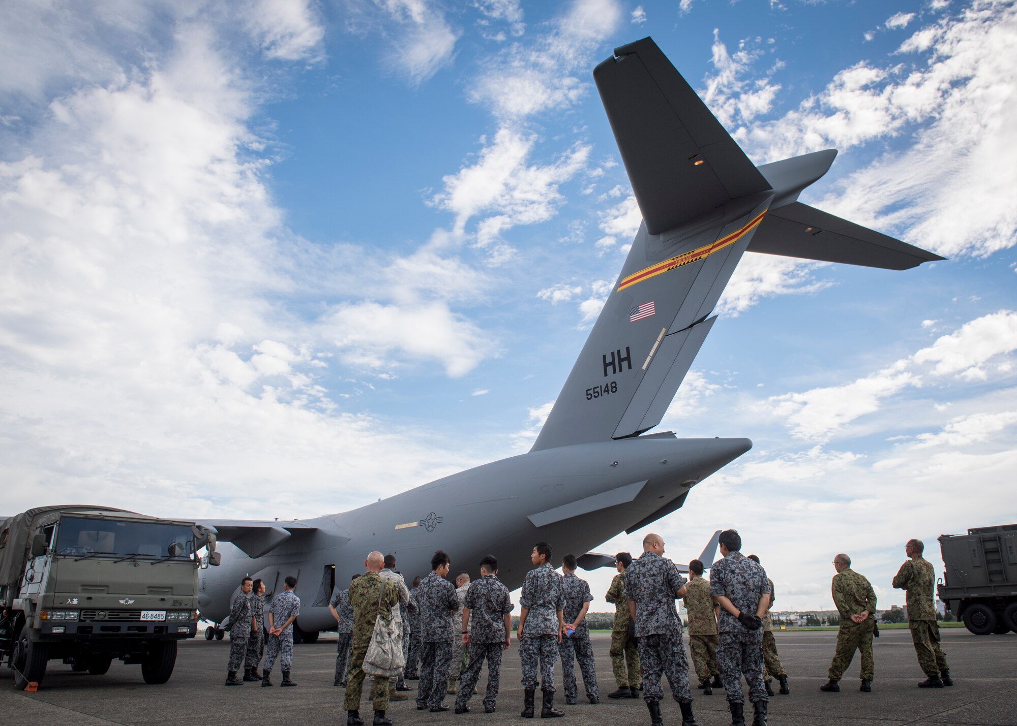
[(520, 594), (519, 656), (523, 661), (523, 713), (533, 718), (533, 700), (537, 688), (537, 664), (540, 664), (540, 689), (543, 692), (541, 718), (563, 716), (554, 708), (554, 661), (564, 630), (565, 591), (561, 576), (551, 567), (551, 546), (538, 542), (530, 553), (536, 565), (526, 573)]

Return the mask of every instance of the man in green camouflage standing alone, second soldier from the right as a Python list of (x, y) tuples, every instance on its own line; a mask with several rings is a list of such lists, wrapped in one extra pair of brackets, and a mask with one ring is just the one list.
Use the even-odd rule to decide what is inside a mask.
[(837, 574), (833, 576), (830, 593), (840, 615), (837, 630), (837, 652), (827, 676), (830, 680), (820, 690), (839, 691), (837, 681), (851, 665), (854, 652), (861, 653), (860, 690), (873, 689), (873, 632), (876, 629), (876, 591), (862, 576), (851, 569), (851, 558), (838, 554), (833, 558)]

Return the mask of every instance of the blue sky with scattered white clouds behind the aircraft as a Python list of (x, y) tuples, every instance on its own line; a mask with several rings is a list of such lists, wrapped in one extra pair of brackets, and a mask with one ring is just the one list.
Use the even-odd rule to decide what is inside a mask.
[(525, 451), (639, 225), (591, 71), (652, 36), (757, 163), (839, 149), (804, 201), (949, 257), (745, 256), (660, 430), (755, 448), (669, 552), (737, 527), (815, 608), (843, 550), (890, 604), (907, 538), (1017, 521), (1013, 2), (93, 12), (0, 10), (7, 509), (306, 518)]

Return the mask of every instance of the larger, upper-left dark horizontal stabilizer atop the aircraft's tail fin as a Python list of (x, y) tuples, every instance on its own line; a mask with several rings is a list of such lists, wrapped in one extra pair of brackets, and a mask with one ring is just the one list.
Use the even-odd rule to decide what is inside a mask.
[(650, 234), (771, 188), (650, 38), (615, 48), (593, 77)]

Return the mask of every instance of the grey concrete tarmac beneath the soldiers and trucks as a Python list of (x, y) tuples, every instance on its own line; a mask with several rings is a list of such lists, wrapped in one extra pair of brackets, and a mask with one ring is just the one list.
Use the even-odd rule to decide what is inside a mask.
[[(950, 660), (955, 685), (949, 688), (923, 689), (915, 684), (924, 676), (918, 668), (907, 630), (884, 630), (876, 641), (876, 681), (872, 693), (858, 690), (858, 660), (851, 664), (841, 681), (840, 693), (819, 690), (826, 682), (826, 672), (834, 653), (835, 632), (778, 632), (777, 648), (790, 674), (790, 695), (770, 700), (773, 726), (817, 724), (822, 726), (1012, 726), (1017, 724), (1017, 634), (972, 636), (965, 629), (944, 629), (943, 648)], [(609, 636), (594, 633), (597, 674), (602, 703), (565, 706), (560, 687), (560, 666), (556, 668), (558, 692), (555, 706), (565, 712), (559, 726), (593, 726), (627, 723), (649, 726), (649, 715), (642, 700), (611, 701), (614, 690), (610, 661), (607, 657)], [(114, 662), (109, 673), (94, 676), (72, 673), (70, 666), (50, 661), (46, 678), (37, 692), (26, 693), (11, 687), (11, 671), (0, 668), (0, 723), (35, 724), (345, 724), (344, 690), (332, 685), (335, 670), (335, 636), (323, 633), (312, 646), (294, 649), (293, 679), (295, 688), (281, 688), (281, 674), (273, 673), (275, 687), (258, 683), (226, 687), (226, 661), (229, 642), (206, 642), (199, 637), (180, 644), (176, 670), (165, 685), (147, 685), (141, 679), (140, 666)], [(577, 667), (577, 676), (579, 669)], [(416, 710), (409, 701), (393, 703), (388, 715), (396, 726), (434, 724), (440, 726), (499, 726), (519, 724), (523, 707), (522, 672), (518, 642), (505, 654), (501, 667), (501, 688), (497, 713), (484, 714), (480, 701), (486, 672), (478, 684), (481, 695), (470, 701), (473, 712), (455, 715), (452, 711), (431, 714)], [(695, 678), (694, 678), (695, 680)], [(416, 686), (417, 681), (410, 681)], [(774, 681), (776, 686), (776, 681)], [(680, 723), (677, 704), (663, 702), (664, 723)], [(704, 697), (695, 688), (696, 717), (703, 726), (730, 724), (723, 690)], [(455, 697), (445, 704), (453, 705)], [(537, 692), (537, 713), (540, 692)], [(364, 699), (361, 717), (369, 726), (370, 703)], [(746, 708), (752, 723), (751, 707)]]

